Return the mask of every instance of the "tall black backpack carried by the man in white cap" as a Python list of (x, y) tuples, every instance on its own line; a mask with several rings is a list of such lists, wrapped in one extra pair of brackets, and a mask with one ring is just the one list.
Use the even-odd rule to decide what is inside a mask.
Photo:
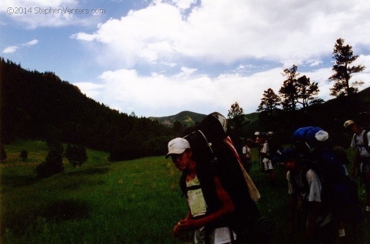
[[(274, 235), (274, 225), (269, 219), (260, 218), (256, 204), (259, 196), (257, 199), (253, 197), (253, 191), (257, 191), (257, 188), (250, 178), (246, 180), (246, 176), (249, 176), (241, 165), (231, 140), (226, 135), (226, 124), (226, 119), (221, 114), (212, 113), (200, 123), (199, 130), (184, 137), (190, 144), (193, 159), (197, 162), (200, 185), (202, 186), (204, 182), (212, 184), (207, 172), (215, 172), (234, 204), (234, 214), (231, 219), (225, 221), (236, 232), (237, 238), (247, 239), (251, 243), (268, 243)], [(207, 208), (212, 210), (217, 208), (214, 204), (219, 203), (212, 201), (213, 195), (207, 192), (212, 189), (212, 186), (209, 187), (206, 184), (203, 184), (201, 189)], [(180, 185), (183, 192), (186, 192), (185, 177), (182, 177)], [(251, 189), (253, 187), (255, 189)], [(207, 199), (210, 201), (207, 202)]]

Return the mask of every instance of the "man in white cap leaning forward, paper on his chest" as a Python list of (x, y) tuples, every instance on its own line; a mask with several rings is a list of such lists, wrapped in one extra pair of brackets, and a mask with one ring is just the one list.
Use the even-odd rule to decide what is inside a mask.
[(190, 144), (184, 138), (168, 143), (166, 158), (170, 156), (183, 171), (181, 185), (185, 184), (189, 207), (185, 219), (175, 225), (174, 235), (181, 237), (184, 232), (194, 231), (195, 244), (232, 243), (236, 235), (229, 228), (228, 218), (235, 208), (215, 170), (193, 160)]

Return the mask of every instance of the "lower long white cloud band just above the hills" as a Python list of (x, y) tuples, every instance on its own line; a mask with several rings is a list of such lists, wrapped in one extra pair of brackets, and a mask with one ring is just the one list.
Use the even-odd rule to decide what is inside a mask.
[[(360, 56), (358, 63), (370, 65), (370, 55)], [(157, 73), (143, 76), (137, 70), (118, 69), (102, 73), (99, 85), (89, 82), (75, 85), (97, 101), (110, 104), (124, 113), (134, 111), (138, 116), (169, 116), (184, 110), (202, 114), (219, 111), (226, 115), (234, 102), (238, 102), (249, 114), (256, 111), (264, 90), (272, 88), (275, 93), (279, 92), (285, 80), (282, 76), (284, 68), (277, 67), (252, 75), (222, 73), (215, 78), (196, 75), (195, 69), (187, 67), (182, 67), (172, 76)], [(333, 98), (329, 95), (333, 82), (328, 81), (332, 68), (300, 72), (298, 67), (298, 72), (300, 76), (310, 78), (311, 82), (318, 82), (320, 98)], [(353, 81), (366, 82), (360, 90), (370, 86), (369, 78), (368, 70), (352, 77)]]

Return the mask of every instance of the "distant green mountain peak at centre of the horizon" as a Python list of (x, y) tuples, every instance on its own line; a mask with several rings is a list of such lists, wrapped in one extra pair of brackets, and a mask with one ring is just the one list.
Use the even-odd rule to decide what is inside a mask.
[(165, 117), (149, 117), (148, 119), (152, 121), (158, 121), (160, 124), (167, 126), (173, 126), (175, 121), (179, 121), (186, 126), (193, 126), (201, 122), (206, 115), (198, 114), (190, 111), (183, 111), (176, 115), (165, 116)]

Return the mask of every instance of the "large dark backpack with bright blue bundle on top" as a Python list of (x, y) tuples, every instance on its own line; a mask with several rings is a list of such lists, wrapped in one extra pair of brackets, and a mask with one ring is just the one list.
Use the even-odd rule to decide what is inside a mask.
[[(364, 213), (358, 198), (357, 184), (345, 174), (343, 164), (347, 162), (343, 161), (341, 155), (332, 148), (312, 147), (317, 145), (314, 138), (317, 138), (316, 133), (319, 131), (323, 130), (320, 127), (305, 127), (296, 130), (292, 136), (294, 143), (300, 146), (306, 144), (310, 147), (310, 150), (298, 151), (305, 164), (302, 175), (305, 175), (308, 169), (314, 170), (322, 185), (322, 204), (340, 220), (347, 223), (360, 223), (363, 221)], [(305, 187), (308, 188), (306, 177), (302, 178)]]

